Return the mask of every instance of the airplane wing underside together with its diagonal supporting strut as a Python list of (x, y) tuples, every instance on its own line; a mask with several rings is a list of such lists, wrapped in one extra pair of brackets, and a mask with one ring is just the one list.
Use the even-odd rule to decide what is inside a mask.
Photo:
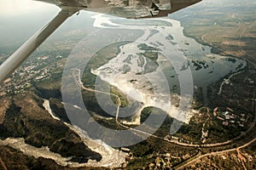
[(61, 12), (41, 30), (29, 38), (9, 59), (0, 65), (0, 83), (15, 71), (68, 17), (81, 9), (140, 19), (167, 16), (201, 0), (37, 0), (54, 3)]

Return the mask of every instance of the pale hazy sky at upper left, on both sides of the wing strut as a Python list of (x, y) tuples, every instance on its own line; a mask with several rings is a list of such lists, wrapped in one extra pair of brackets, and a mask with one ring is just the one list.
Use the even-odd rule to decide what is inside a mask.
[[(32, 0), (0, 0), (0, 48), (17, 41), (25, 42), (49, 20), (52, 20), (60, 10), (61, 8), (50, 3)], [(88, 15), (90, 14), (85, 11), (74, 15), (57, 31), (75, 30), (92, 25)]]

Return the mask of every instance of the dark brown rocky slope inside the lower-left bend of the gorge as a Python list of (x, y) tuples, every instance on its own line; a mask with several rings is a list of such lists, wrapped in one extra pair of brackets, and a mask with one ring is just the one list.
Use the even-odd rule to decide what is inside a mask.
[(23, 138), (26, 144), (38, 148), (47, 146), (50, 151), (71, 157), (75, 162), (102, 159), (77, 133), (53, 119), (41, 104), (43, 99), (32, 92), (0, 99), (0, 138)]

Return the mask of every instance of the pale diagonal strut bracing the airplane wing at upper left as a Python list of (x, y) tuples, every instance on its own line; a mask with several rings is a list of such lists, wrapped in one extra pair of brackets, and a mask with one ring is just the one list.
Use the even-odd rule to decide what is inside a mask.
[(80, 8), (61, 7), (61, 12), (55, 18), (30, 37), (20, 48), (18, 48), (9, 59), (0, 65), (0, 83), (15, 71), (36, 50), (46, 38), (48, 38), (68, 17), (78, 12)]

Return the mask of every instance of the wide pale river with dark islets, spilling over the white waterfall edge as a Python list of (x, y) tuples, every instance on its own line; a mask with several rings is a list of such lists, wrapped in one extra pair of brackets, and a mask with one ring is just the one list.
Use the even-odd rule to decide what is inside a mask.
[[(143, 34), (120, 46), (116, 57), (91, 72), (144, 107), (160, 108), (182, 122), (189, 122), (189, 101), (194, 87), (206, 88), (247, 65), (242, 59), (212, 54), (210, 47), (185, 37), (177, 20), (125, 20), (103, 14), (92, 18), (96, 28), (108, 32), (130, 30)], [(147, 53), (157, 54), (157, 59), (147, 59)], [(179, 108), (170, 106), (170, 94), (178, 94), (185, 100), (183, 106), (181, 102)]]

